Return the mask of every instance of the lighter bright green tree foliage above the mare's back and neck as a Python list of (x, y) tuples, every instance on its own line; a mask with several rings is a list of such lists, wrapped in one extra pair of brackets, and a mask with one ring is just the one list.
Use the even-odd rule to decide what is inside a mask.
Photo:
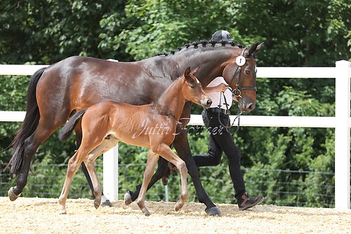
[[(121, 34), (106, 31), (100, 35), (106, 44), (113, 48), (126, 46), (126, 53), (134, 60), (145, 59), (157, 53), (168, 53), (179, 46), (199, 39), (211, 39), (220, 25), (225, 25), (232, 14), (229, 1), (147, 0), (129, 1), (126, 5), (125, 25)], [(110, 24), (103, 21), (104, 27), (118, 25), (118, 19)], [(120, 22), (120, 20), (118, 20)]]

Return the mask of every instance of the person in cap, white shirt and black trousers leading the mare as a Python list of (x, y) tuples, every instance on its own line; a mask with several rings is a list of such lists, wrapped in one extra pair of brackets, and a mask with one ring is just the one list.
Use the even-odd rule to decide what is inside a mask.
[[(213, 41), (232, 41), (229, 32), (219, 30), (212, 36)], [(249, 209), (263, 202), (263, 196), (250, 197), (246, 192), (245, 183), (240, 169), (240, 151), (234, 144), (232, 135), (223, 128), (230, 124), (229, 109), (232, 106), (232, 92), (227, 89), (227, 83), (223, 77), (215, 78), (204, 88), (204, 91), (212, 99), (209, 109), (202, 112), (204, 125), (209, 132), (208, 153), (194, 156), (197, 167), (219, 165), (224, 152), (228, 158), (230, 177), (232, 178), (235, 198), (239, 210)], [(227, 105), (227, 106), (226, 106)]]

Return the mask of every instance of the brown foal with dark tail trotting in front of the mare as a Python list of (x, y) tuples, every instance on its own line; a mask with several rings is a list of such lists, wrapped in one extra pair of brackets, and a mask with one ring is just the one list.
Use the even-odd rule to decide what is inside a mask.
[(158, 101), (152, 104), (134, 106), (121, 102), (100, 102), (69, 118), (60, 130), (59, 138), (62, 141), (67, 139), (79, 121), (81, 121), (83, 138), (81, 146), (68, 163), (65, 184), (58, 199), (60, 214), (66, 214), (69, 186), (82, 162), (86, 163), (93, 181), (95, 208), (100, 206), (102, 189), (95, 172), (95, 159), (115, 146), (117, 142), (149, 147), (143, 184), (137, 199), (138, 206), (146, 216), (149, 216), (150, 212), (145, 207), (145, 193), (159, 156), (176, 165), (180, 172), (181, 193), (174, 209), (178, 211), (183, 207), (188, 196), (187, 167), (169, 146), (176, 136), (177, 123), (185, 102), (194, 102), (205, 109), (211, 106), (211, 99), (204, 93), (201, 83), (194, 76), (198, 71), (199, 68), (190, 73), (190, 67), (188, 67), (183, 76), (180, 76)]

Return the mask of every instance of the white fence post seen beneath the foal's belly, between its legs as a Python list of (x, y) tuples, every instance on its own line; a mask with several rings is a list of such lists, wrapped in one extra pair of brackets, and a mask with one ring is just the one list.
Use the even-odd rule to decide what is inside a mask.
[(118, 144), (103, 155), (103, 189), (105, 197), (118, 200)]

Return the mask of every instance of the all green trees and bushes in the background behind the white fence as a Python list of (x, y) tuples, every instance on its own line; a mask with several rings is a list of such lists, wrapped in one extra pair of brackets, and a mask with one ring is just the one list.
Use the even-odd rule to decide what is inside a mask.
[[(351, 6), (346, 0), (4, 0), (0, 1), (0, 8), (1, 64), (51, 64), (71, 55), (142, 60), (176, 50), (184, 43), (211, 39), (218, 29), (227, 29), (234, 41), (247, 47), (265, 41), (258, 54), (258, 66), (333, 67), (336, 60), (350, 60)], [(28, 81), (28, 76), (0, 76), (1, 110), (25, 111)], [(257, 107), (249, 114), (333, 116), (334, 85), (333, 79), (259, 78)], [(235, 111), (233, 106), (232, 113)], [(201, 109), (193, 106), (192, 113), (201, 113)], [(11, 144), (19, 125), (0, 123), (2, 149)], [(192, 153), (205, 153), (206, 130), (188, 126), (188, 132)], [(267, 203), (277, 205), (333, 206), (333, 177), (326, 177), (334, 170), (333, 135), (333, 129), (241, 127), (234, 141), (241, 149), (248, 191), (263, 193)], [(74, 149), (74, 137), (62, 144), (55, 133), (39, 147), (34, 161), (67, 163)], [(10, 158), (11, 149), (0, 152), (3, 165)], [(121, 165), (138, 165), (145, 163), (146, 158), (147, 149), (119, 144)], [(121, 170), (121, 193), (142, 181), (143, 167), (135, 168), (131, 165)], [(223, 170), (201, 168), (201, 180), (215, 202), (234, 202), (225, 156), (220, 168)], [(40, 181), (59, 184), (51, 189), (60, 193), (63, 181), (54, 181), (47, 174), (61, 174), (63, 178), (65, 172), (59, 167), (45, 170), (32, 168), (34, 174), (42, 176), (32, 180), (29, 177), (23, 195), (44, 195), (39, 193), (44, 188), (34, 187)], [(78, 184), (73, 189), (83, 189), (87, 196), (91, 195), (82, 174), (74, 180)], [(178, 177), (170, 178), (170, 195), (174, 199), (179, 194), (179, 183)], [(291, 188), (292, 184), (296, 186)], [(196, 200), (192, 184), (188, 188), (190, 200)], [(162, 191), (163, 186), (157, 183), (152, 189)], [(216, 201), (219, 197), (221, 200)]]

